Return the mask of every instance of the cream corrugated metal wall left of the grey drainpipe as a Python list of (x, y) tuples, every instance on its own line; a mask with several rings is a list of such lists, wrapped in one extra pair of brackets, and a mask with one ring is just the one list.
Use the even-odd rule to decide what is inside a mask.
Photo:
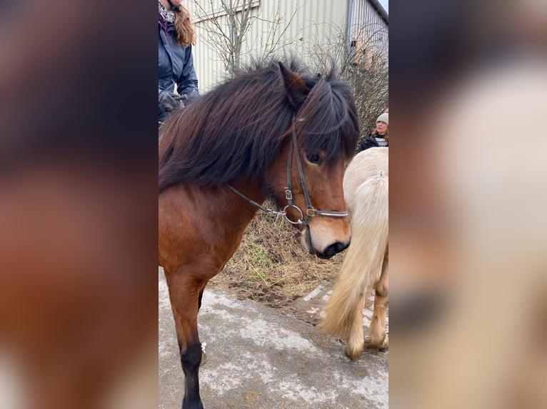
[[(201, 0), (197, 3), (199, 6), (195, 1), (185, 1), (183, 4), (190, 10), (196, 26), (198, 40), (194, 47), (194, 66), (199, 78), (200, 92), (204, 93), (223, 81), (228, 73), (210, 40), (208, 43), (211, 23), (204, 16), (210, 15), (211, 10), (221, 10), (221, 2)], [(234, 0), (234, 4), (236, 3)], [(239, 0), (239, 3), (243, 3), (243, 0)], [(242, 62), (249, 61), (251, 56), (262, 55), (265, 49), (271, 49), (268, 46), (274, 26), (271, 21), (279, 21), (274, 38), (279, 38), (278, 46), (282, 47), (277, 55), (283, 51), (296, 51), (298, 55), (305, 56), (306, 50), (313, 43), (321, 42), (323, 38), (331, 38), (336, 35), (337, 30), (345, 31), (347, 26), (348, 0), (254, 0), (253, 5), (251, 15), (258, 16), (259, 19), (254, 21), (247, 32), (241, 51)], [(228, 17), (217, 15), (217, 21), (228, 33)]]

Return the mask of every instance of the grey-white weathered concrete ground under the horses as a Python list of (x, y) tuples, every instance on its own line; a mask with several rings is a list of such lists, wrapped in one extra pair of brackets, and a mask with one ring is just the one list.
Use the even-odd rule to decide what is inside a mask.
[[(352, 362), (342, 343), (308, 323), (319, 319), (329, 291), (322, 286), (298, 300), (289, 307), (291, 316), (206, 290), (199, 315), (207, 353), (200, 370), (205, 408), (388, 408), (388, 352), (365, 351), (361, 361)], [(159, 383), (159, 408), (180, 408), (184, 375), (163, 273)]]

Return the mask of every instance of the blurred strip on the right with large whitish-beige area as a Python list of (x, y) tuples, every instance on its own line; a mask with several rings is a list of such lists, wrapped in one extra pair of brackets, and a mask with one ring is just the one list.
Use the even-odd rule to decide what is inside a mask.
[[(409, 83), (390, 88), (401, 135), (390, 146), (390, 404), (546, 408), (547, 13), (458, 4), (462, 14), (408, 33), (423, 47), (401, 41), (431, 68), (419, 81), (390, 71)], [(400, 30), (431, 11), (412, 8), (391, 31), (392, 56)], [(453, 63), (436, 63), (445, 55)]]

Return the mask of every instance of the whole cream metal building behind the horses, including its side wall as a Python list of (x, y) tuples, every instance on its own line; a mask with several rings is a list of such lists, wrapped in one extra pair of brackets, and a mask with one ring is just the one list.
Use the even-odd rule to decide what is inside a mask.
[[(251, 56), (295, 53), (305, 61), (328, 49), (336, 58), (373, 63), (387, 58), (388, 15), (377, 0), (191, 0), (186, 1), (198, 42), (194, 66), (201, 93), (228, 78)], [(248, 28), (237, 41), (242, 22)], [(233, 48), (232, 48), (233, 49)]]

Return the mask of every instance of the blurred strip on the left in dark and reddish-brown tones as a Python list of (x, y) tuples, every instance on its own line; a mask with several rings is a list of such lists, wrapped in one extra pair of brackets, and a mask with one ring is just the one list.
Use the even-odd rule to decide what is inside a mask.
[(157, 405), (155, 11), (105, 3), (1, 6), (1, 407)]

